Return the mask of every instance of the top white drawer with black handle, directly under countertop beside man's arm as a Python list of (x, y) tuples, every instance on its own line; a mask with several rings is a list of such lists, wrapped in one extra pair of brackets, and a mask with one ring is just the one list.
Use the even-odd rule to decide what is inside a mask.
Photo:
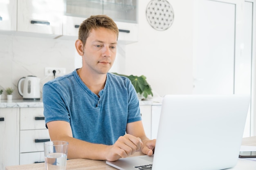
[(20, 130), (46, 129), (43, 108), (20, 108)]

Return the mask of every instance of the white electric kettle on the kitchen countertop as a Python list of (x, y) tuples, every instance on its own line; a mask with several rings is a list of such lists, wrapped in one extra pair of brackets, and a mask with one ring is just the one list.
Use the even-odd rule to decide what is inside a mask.
[[(21, 91), (22, 82), (24, 82), (23, 91)], [(23, 100), (40, 100), (40, 79), (33, 75), (20, 78), (18, 92)]]

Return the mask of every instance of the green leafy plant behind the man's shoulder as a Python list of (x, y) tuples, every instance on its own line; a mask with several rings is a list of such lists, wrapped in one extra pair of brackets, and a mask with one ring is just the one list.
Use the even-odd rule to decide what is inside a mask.
[(153, 96), (152, 89), (148, 84), (148, 82), (146, 81), (146, 77), (144, 75), (136, 76), (136, 75), (123, 75), (118, 73), (113, 73), (113, 74), (128, 77), (128, 79), (130, 79), (130, 81), (132, 82), (132, 85), (134, 86), (137, 94), (142, 94), (145, 97), (145, 99), (148, 97), (148, 95)]

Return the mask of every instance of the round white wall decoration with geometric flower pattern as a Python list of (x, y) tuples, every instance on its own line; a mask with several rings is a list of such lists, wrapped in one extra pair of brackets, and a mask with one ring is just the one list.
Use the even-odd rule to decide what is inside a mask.
[(173, 7), (167, 0), (151, 0), (146, 8), (146, 17), (150, 26), (164, 31), (173, 24)]

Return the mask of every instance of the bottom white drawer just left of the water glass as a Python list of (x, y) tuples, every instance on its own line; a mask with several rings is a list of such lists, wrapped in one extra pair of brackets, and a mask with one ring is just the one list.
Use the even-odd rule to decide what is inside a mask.
[(45, 152), (20, 153), (20, 165), (45, 161)]

